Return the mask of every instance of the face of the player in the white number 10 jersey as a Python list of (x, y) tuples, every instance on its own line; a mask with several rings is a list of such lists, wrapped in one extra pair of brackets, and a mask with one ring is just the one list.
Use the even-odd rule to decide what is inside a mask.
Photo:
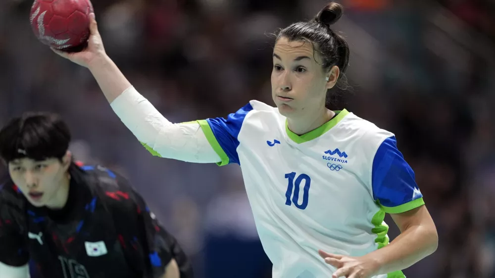
[(286, 117), (298, 117), (324, 107), (327, 90), (337, 82), (339, 68), (334, 66), (325, 72), (322, 59), (313, 52), (309, 42), (289, 42), (282, 37), (275, 44), (272, 97), (280, 113)]

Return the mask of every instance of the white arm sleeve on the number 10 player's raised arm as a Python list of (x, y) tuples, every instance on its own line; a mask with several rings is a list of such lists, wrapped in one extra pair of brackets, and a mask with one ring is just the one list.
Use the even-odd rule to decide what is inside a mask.
[(134, 87), (120, 94), (111, 104), (124, 125), (155, 155), (196, 163), (221, 162), (206, 139), (199, 123), (173, 124)]

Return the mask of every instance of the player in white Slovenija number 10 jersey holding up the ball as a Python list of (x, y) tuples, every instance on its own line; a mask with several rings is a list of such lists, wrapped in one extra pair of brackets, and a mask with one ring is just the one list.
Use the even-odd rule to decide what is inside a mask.
[[(331, 2), (279, 32), (277, 108), (251, 100), (227, 118), (191, 123), (170, 123), (131, 86), (106, 55), (95, 20), (84, 51), (55, 52), (90, 69), (153, 154), (241, 165), (274, 278), (402, 278), (400, 270), (436, 250), (438, 235), (394, 134), (325, 107), (348, 65), (349, 47), (331, 28), (341, 15)], [(390, 244), (385, 213), (401, 231)]]

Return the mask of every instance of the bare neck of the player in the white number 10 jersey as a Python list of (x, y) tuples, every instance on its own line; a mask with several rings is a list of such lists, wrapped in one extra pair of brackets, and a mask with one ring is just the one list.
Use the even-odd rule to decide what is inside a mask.
[(311, 113), (302, 117), (287, 118), (287, 123), (290, 131), (297, 135), (303, 135), (321, 127), (334, 116), (334, 111), (323, 106), (317, 110), (317, 113)]

